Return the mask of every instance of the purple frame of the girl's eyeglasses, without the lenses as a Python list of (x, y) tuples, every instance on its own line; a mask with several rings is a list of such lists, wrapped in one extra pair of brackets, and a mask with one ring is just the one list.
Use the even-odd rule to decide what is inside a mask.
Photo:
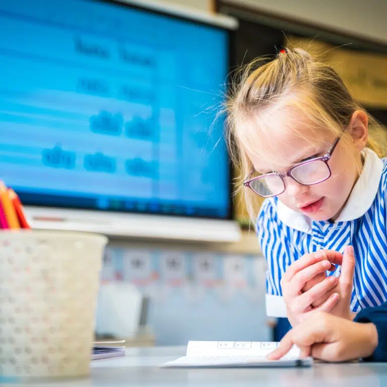
[[(340, 141), (340, 137), (337, 137), (336, 140), (334, 141), (334, 143), (331, 145), (331, 148), (329, 148), (329, 151), (327, 152), (326, 155), (324, 156), (321, 156), (321, 157), (314, 157), (313, 159), (309, 159), (309, 160), (305, 160), (305, 161), (302, 161), (301, 163), (298, 163), (296, 165), (293, 165), (287, 172), (284, 172), (284, 173), (275, 173), (275, 172), (272, 172), (272, 173), (265, 173), (264, 175), (261, 175), (261, 176), (256, 176), (256, 177), (253, 177), (252, 179), (250, 179), (250, 176), (252, 175), (252, 173), (254, 173), (254, 170), (252, 170), (249, 174), (249, 176), (247, 177), (246, 180), (243, 181), (243, 185), (245, 187), (249, 187), (253, 192), (255, 192), (257, 195), (259, 196), (262, 196), (263, 198), (271, 198), (273, 196), (278, 196), (278, 195), (281, 195), (281, 193), (284, 193), (285, 190), (286, 190), (286, 185), (285, 185), (285, 177), (286, 176), (289, 176), (290, 178), (292, 178), (294, 181), (296, 181), (297, 183), (299, 184), (302, 184), (302, 185), (314, 185), (314, 184), (318, 184), (318, 183), (321, 183), (322, 181), (326, 181), (328, 180), (331, 176), (332, 176), (332, 171), (331, 171), (331, 168), (328, 164), (328, 161), (331, 159), (332, 157), (332, 154), (333, 154), (333, 151), (335, 150), (337, 144), (339, 143)], [(313, 161), (324, 161), (325, 164), (327, 165), (328, 167), (328, 170), (329, 170), (329, 175), (327, 177), (325, 177), (324, 179), (321, 179), (319, 181), (316, 181), (315, 183), (311, 183), (311, 184), (305, 184), (305, 183), (302, 183), (301, 181), (298, 181), (294, 176), (292, 176), (292, 170), (295, 169), (295, 168), (298, 168), (299, 166), (301, 165), (305, 165), (305, 164), (309, 164)], [(251, 186), (251, 183), (253, 181), (256, 181), (256, 180), (260, 180), (264, 177), (268, 177), (268, 176), (279, 176), (282, 180), (282, 182), (284, 183), (284, 189), (283, 191), (279, 192), (279, 193), (276, 193), (276, 195), (261, 195), (261, 193), (257, 192), (252, 186)]]

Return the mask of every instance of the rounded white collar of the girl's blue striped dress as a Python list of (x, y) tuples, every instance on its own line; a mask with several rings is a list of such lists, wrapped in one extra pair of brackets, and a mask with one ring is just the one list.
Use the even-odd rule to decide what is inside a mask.
[[(360, 218), (375, 200), (383, 171), (383, 162), (371, 149), (365, 148), (362, 154), (364, 156), (363, 169), (335, 223)], [(280, 200), (277, 206), (278, 217), (284, 224), (302, 232), (311, 232), (312, 220), (309, 217), (291, 210)]]

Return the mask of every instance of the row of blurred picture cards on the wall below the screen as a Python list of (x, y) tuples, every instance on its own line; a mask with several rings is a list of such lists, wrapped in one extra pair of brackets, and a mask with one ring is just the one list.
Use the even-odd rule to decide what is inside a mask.
[(207, 291), (222, 302), (236, 293), (253, 299), (257, 278), (265, 281), (253, 263), (252, 255), (107, 247), (101, 283), (133, 283), (156, 302), (174, 291), (183, 291), (188, 302), (201, 301)]

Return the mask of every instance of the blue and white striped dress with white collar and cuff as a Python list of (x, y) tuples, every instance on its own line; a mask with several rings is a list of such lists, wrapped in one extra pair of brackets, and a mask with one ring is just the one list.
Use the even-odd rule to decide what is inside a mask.
[[(356, 267), (351, 309), (359, 311), (387, 300), (387, 159), (366, 149), (364, 166), (339, 218), (313, 221), (277, 198), (262, 205), (257, 236), (267, 261), (266, 308), (269, 316), (286, 317), (280, 286), (286, 269), (303, 254), (320, 249), (343, 252), (354, 247)], [(340, 267), (333, 275), (340, 274)]]

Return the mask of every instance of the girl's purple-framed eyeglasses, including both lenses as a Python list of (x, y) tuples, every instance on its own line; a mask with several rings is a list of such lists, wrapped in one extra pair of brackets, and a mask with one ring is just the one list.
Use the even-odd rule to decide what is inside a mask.
[(340, 137), (335, 140), (325, 156), (314, 157), (302, 161), (291, 167), (287, 172), (265, 173), (264, 175), (251, 178), (252, 171), (248, 178), (243, 182), (243, 185), (249, 187), (264, 198), (270, 198), (272, 196), (281, 195), (281, 193), (285, 191), (286, 176), (291, 177), (302, 185), (314, 185), (328, 180), (332, 175), (328, 161), (331, 159), (339, 140)]

